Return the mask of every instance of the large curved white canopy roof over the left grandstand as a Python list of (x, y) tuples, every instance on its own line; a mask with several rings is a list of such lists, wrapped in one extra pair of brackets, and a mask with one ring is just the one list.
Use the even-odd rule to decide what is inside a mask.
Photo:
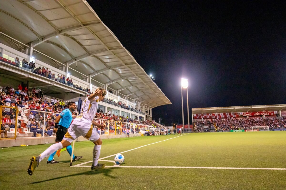
[(29, 51), (36, 59), (57, 68), (68, 65), (72, 75), (80, 72), (150, 108), (171, 104), (86, 1), (7, 0), (0, 5), (0, 31), (33, 48)]

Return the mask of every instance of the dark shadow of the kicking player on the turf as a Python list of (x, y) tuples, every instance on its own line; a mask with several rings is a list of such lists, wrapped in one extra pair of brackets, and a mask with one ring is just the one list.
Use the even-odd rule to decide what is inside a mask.
[(56, 180), (56, 179), (62, 179), (62, 178), (65, 178), (65, 177), (72, 177), (72, 176), (77, 176), (77, 175), (96, 175), (96, 174), (100, 174), (100, 173), (103, 173), (103, 175), (105, 175), (107, 177), (110, 177), (110, 178), (113, 178), (113, 179), (118, 178), (118, 177), (115, 177), (115, 176), (112, 176), (112, 175), (109, 174), (112, 169), (118, 169), (118, 167), (110, 167), (110, 168), (106, 168), (106, 169), (98, 169), (98, 170), (95, 170), (95, 171), (85, 171), (85, 172), (82, 172), (82, 173), (74, 173), (74, 174), (71, 174), (71, 175), (65, 175), (65, 176), (55, 177), (55, 178), (51, 178), (51, 179), (46, 179), (46, 180), (43, 180), (43, 181), (32, 182), (32, 184), (42, 183), (42, 182), (46, 182), (46, 181), (52, 181), (52, 180)]

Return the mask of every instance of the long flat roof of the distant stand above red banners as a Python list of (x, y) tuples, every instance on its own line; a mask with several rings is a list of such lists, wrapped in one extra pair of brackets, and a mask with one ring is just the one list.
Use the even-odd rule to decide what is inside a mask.
[(286, 104), (260, 105), (260, 106), (192, 108), (192, 114), (202, 114), (202, 113), (240, 113), (240, 112), (259, 112), (259, 111), (286, 111)]

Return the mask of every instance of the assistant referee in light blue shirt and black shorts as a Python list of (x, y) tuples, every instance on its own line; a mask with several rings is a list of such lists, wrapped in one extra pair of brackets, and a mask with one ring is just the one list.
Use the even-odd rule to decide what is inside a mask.
[[(75, 102), (69, 102), (67, 105), (67, 109), (63, 110), (55, 119), (55, 128), (53, 129), (53, 133), (56, 134), (55, 137), (55, 143), (61, 142), (63, 140), (63, 137), (65, 133), (67, 132), (67, 128), (69, 128), (69, 125), (72, 122), (72, 112), (76, 111), (76, 103)], [(55, 153), (57, 151), (53, 152), (49, 159), (47, 160), (47, 164), (57, 164), (59, 162), (55, 161), (53, 157), (55, 156)], [(67, 152), (70, 156), (73, 156), (73, 162), (76, 160), (80, 160), (82, 156), (74, 156), (72, 155), (72, 146), (67, 146)]]

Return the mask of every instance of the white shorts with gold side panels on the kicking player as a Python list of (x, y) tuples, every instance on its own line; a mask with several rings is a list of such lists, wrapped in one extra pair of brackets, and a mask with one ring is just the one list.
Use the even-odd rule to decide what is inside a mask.
[(67, 140), (68, 142), (71, 143), (79, 136), (83, 136), (84, 138), (90, 140), (91, 142), (97, 141), (100, 138), (98, 132), (95, 130), (93, 126), (80, 126), (76, 124), (71, 124), (63, 140)]

